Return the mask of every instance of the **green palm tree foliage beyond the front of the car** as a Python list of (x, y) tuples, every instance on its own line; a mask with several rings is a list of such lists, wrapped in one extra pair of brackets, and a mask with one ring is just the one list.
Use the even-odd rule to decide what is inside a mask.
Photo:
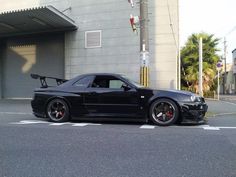
[(209, 93), (216, 88), (216, 64), (219, 39), (207, 33), (192, 34), (181, 49), (181, 87), (199, 93), (199, 39), (203, 43), (203, 92)]

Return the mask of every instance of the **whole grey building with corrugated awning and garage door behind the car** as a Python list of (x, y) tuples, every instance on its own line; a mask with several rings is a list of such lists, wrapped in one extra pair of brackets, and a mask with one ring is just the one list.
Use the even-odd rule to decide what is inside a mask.
[[(148, 0), (150, 86), (177, 87), (178, 0)], [(127, 0), (2, 0), (0, 98), (31, 98), (31, 73), (70, 79), (90, 72), (139, 81), (140, 39)]]

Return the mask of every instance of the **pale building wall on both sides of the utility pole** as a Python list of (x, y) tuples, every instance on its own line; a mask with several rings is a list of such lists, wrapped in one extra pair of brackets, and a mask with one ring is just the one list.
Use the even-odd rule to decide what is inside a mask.
[[(139, 4), (131, 8), (127, 0), (3, 1), (0, 11), (43, 5), (64, 11), (71, 7), (64, 13), (75, 20), (78, 30), (65, 34), (67, 79), (82, 73), (114, 72), (139, 81), (139, 34), (129, 24), (130, 14), (139, 15)], [(101, 48), (85, 48), (85, 32), (90, 30), (102, 30)], [(149, 34), (150, 86), (176, 88), (178, 0), (149, 0)]]

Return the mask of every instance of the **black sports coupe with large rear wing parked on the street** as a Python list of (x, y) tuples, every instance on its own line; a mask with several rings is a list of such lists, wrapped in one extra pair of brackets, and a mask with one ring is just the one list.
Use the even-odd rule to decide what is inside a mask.
[[(179, 90), (153, 90), (119, 74), (84, 74), (71, 80), (31, 75), (40, 79), (31, 102), (37, 117), (53, 122), (72, 118), (151, 120), (157, 125), (202, 123), (207, 111), (203, 97)], [(49, 87), (47, 79), (58, 86)]]

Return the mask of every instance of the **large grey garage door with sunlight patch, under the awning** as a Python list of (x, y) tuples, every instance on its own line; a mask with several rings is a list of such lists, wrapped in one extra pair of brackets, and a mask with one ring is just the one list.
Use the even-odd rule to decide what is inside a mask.
[(3, 98), (31, 98), (39, 81), (31, 73), (64, 78), (64, 34), (7, 40), (3, 58)]

